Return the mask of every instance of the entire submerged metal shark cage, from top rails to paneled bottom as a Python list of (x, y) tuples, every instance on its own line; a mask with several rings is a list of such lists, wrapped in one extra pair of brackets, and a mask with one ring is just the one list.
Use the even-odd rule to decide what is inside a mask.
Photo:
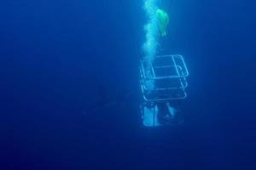
[(172, 126), (183, 123), (181, 101), (187, 98), (189, 71), (179, 54), (156, 56), (139, 66), (142, 102), (140, 112), (145, 127)]

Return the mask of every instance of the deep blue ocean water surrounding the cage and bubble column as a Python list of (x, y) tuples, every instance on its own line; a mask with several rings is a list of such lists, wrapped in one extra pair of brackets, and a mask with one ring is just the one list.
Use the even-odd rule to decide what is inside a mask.
[(1, 169), (255, 169), (255, 3), (164, 1), (182, 127), (142, 127), (143, 0), (0, 3)]

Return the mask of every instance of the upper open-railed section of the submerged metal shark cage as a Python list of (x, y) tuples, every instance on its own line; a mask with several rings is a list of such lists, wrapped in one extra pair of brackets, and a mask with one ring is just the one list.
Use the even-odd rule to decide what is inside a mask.
[[(168, 70), (161, 73), (159, 70)], [(173, 70), (173, 71), (170, 71)], [(185, 88), (188, 87), (186, 77), (189, 71), (183, 56), (179, 54), (157, 56), (147, 68), (145, 61), (140, 66), (140, 86), (143, 99), (146, 102), (186, 99)], [(154, 88), (148, 88), (147, 83), (154, 83)], [(163, 85), (165, 84), (165, 85)]]

